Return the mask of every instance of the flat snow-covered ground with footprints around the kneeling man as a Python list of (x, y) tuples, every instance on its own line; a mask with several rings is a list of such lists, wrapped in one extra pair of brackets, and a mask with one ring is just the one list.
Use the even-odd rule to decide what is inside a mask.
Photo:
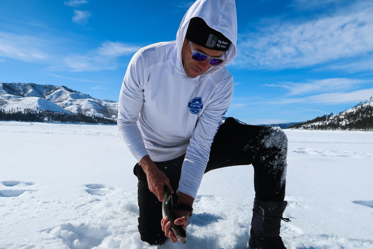
[[(285, 130), (288, 249), (373, 248), (373, 132)], [(156, 248), (137, 231), (135, 159), (116, 126), (0, 122), (0, 248)], [(246, 248), (252, 166), (207, 173), (185, 245)]]

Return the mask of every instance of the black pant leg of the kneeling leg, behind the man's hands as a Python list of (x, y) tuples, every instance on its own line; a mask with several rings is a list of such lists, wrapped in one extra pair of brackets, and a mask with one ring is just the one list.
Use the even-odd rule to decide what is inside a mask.
[[(172, 194), (174, 205), (178, 202), (179, 196), (176, 194), (176, 190), (179, 187), (181, 166), (184, 161), (184, 156), (185, 155), (170, 161), (154, 162), (169, 178), (170, 185), (174, 191)], [(140, 214), (138, 218), (138, 229), (141, 240), (148, 242), (150, 245), (162, 245), (167, 240), (161, 227), (162, 202), (149, 190), (146, 174), (139, 164), (135, 165), (134, 174), (139, 180), (137, 199)]]

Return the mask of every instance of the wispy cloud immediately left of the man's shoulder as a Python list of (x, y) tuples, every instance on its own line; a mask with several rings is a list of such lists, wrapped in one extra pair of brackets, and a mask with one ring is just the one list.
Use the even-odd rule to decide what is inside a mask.
[(139, 49), (138, 46), (126, 43), (106, 41), (87, 55), (69, 55), (63, 59), (63, 62), (74, 72), (116, 69), (117, 59), (120, 56), (131, 55)]

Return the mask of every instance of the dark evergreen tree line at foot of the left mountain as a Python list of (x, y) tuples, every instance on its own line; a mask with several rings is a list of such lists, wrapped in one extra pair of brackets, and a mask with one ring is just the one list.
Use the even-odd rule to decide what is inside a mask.
[[(18, 108), (17, 108), (18, 109)], [(0, 120), (32, 121), (32, 122), (68, 122), (80, 124), (116, 124), (114, 118), (104, 118), (96, 115), (66, 114), (47, 110), (24, 109), (23, 111), (0, 109)]]

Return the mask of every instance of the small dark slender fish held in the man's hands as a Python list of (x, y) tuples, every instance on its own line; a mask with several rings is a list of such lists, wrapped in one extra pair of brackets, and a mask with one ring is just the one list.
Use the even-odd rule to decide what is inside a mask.
[(182, 225), (175, 225), (175, 220), (177, 219), (177, 217), (172, 205), (171, 191), (166, 185), (164, 185), (162, 215), (163, 218), (165, 218), (166, 216), (168, 217), (168, 220), (171, 221), (171, 230), (175, 234), (176, 238), (181, 243), (185, 244), (186, 231)]

